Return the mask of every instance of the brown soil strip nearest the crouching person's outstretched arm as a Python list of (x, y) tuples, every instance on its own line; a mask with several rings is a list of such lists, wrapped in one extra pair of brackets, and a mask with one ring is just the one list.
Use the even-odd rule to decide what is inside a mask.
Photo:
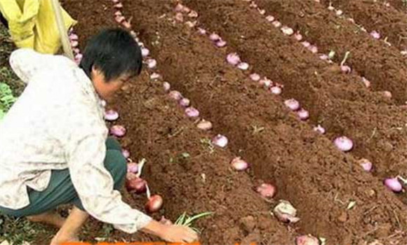
[[(64, 3), (67, 10), (73, 10), (77, 1)], [(93, 3), (99, 6), (100, 1)], [(86, 13), (73, 14), (75, 18), (81, 15)], [(78, 33), (84, 38), (101, 27), (97, 19), (86, 24), (93, 29), (79, 26)], [(143, 178), (154, 193), (164, 197), (161, 214), (166, 218), (175, 221), (184, 211), (214, 211), (213, 216), (197, 223), (197, 228), (204, 228), (203, 244), (294, 244), (295, 232), (270, 216), (269, 204), (255, 193), (250, 176), (232, 170), (232, 154), (208, 144), (209, 134), (200, 132), (185, 118), (184, 111), (162, 92), (161, 82), (152, 80), (151, 74), (143, 71), (137, 83), (126, 86), (108, 106), (121, 112), (117, 123), (127, 126), (122, 146), (130, 150), (131, 158), (147, 159)], [(145, 203), (142, 196), (133, 200), (127, 194), (126, 200), (139, 209)], [(93, 239), (100, 234), (101, 226), (92, 223), (90, 229), (88, 239)], [(151, 241), (152, 237), (115, 231), (110, 240)]]

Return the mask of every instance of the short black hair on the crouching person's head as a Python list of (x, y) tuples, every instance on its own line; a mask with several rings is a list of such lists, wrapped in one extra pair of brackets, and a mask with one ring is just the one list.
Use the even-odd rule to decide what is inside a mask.
[(91, 78), (92, 68), (99, 69), (105, 80), (121, 75), (137, 76), (142, 68), (138, 43), (124, 29), (105, 29), (86, 44), (79, 67)]

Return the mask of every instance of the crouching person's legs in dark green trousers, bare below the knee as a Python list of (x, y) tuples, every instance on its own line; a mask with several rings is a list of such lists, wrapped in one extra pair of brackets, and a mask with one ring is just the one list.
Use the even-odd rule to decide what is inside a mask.
[[(105, 167), (114, 179), (114, 189), (120, 190), (125, 181), (127, 163), (121, 151), (107, 150)], [(62, 225), (53, 239), (52, 245), (62, 241), (76, 241), (76, 233), (88, 218), (76, 190), (69, 176), (69, 170), (57, 170), (51, 174), (51, 181), (42, 192), (35, 190), (29, 193), (30, 204), (20, 210), (1, 208), (5, 214), (12, 216), (30, 216), (32, 221), (46, 222), (54, 225)], [(56, 218), (52, 211), (60, 204), (74, 203), (74, 209), (65, 222)]]

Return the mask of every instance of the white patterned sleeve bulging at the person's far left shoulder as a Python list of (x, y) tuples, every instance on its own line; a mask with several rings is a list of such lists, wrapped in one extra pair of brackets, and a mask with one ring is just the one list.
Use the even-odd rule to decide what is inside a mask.
[(28, 83), (39, 69), (44, 69), (51, 57), (53, 55), (44, 55), (30, 48), (20, 48), (11, 53), (10, 66), (24, 83)]

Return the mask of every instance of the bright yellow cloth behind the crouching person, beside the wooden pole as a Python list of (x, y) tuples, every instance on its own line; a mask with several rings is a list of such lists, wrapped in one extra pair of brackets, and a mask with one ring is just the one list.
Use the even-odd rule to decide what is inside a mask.
[[(58, 52), (60, 34), (51, 0), (0, 0), (0, 11), (18, 48), (49, 54)], [(76, 24), (64, 9), (62, 18), (66, 29)]]

